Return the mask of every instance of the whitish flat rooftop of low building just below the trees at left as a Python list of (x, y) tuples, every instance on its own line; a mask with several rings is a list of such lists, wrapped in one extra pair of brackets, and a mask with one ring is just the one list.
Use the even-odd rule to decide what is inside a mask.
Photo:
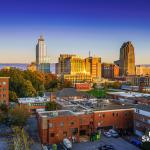
[(27, 98), (18, 98), (20, 104), (29, 104), (29, 103), (44, 103), (48, 102), (49, 99), (45, 97), (27, 97)]

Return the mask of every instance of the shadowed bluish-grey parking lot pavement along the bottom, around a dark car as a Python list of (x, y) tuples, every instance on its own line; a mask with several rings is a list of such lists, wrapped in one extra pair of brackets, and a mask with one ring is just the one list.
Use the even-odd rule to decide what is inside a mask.
[(111, 144), (116, 150), (140, 150), (122, 138), (102, 137), (100, 141), (73, 144), (73, 150), (98, 150), (100, 145)]

